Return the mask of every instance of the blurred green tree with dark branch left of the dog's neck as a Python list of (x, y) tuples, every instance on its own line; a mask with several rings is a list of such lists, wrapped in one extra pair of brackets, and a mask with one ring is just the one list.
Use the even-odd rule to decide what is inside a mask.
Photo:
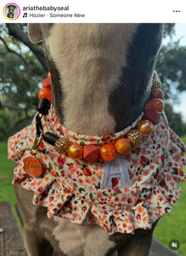
[[(15, 25), (19, 37), (25, 37), (25, 43), (29, 41), (26, 26)], [(47, 62), (42, 45), (31, 46), (29, 41), (28, 46), (39, 56), (36, 58), (25, 44), (12, 36), (12, 32), (9, 36), (7, 26), (1, 25), (0, 31), (0, 140), (7, 140), (27, 125), (36, 113), (37, 93), (42, 79), (47, 77)]]

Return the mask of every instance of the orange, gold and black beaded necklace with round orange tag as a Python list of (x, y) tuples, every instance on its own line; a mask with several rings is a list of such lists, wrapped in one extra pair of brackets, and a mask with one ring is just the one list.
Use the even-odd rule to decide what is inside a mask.
[(126, 135), (121, 134), (113, 143), (108, 143), (107, 138), (110, 136), (104, 135), (102, 140), (105, 143), (82, 145), (81, 143), (70, 143), (66, 137), (57, 137), (49, 131), (42, 135), (42, 114), (48, 113), (48, 108), (51, 104), (50, 73), (48, 73), (48, 78), (42, 81), (42, 90), (39, 91), (38, 97), (40, 101), (36, 118), (37, 134), (31, 147), (31, 156), (25, 159), (24, 165), (25, 172), (32, 177), (40, 177), (42, 175), (42, 164), (36, 157), (37, 148), (42, 142), (42, 138), (45, 142), (53, 145), (59, 154), (65, 154), (73, 160), (85, 160), (89, 164), (93, 164), (93, 162), (98, 160), (108, 162), (114, 160), (117, 154), (126, 155), (132, 148), (137, 148), (143, 143), (144, 138), (149, 137), (154, 131), (154, 125), (159, 123), (160, 114), (164, 109), (161, 82), (157, 78), (156, 73), (154, 73), (150, 101), (145, 107), (143, 119)]

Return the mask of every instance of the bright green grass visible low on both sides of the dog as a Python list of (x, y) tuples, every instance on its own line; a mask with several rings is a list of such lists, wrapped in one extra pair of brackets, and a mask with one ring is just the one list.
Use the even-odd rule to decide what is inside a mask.
[[(186, 143), (186, 137), (183, 141)], [(14, 207), (14, 163), (7, 160), (7, 143), (0, 143), (0, 162), (0, 201), (10, 201)], [(180, 187), (183, 190), (177, 203), (172, 207), (173, 211), (160, 219), (155, 227), (154, 237), (167, 246), (169, 241), (177, 239), (180, 242), (177, 252), (186, 256), (186, 183), (180, 183)]]

